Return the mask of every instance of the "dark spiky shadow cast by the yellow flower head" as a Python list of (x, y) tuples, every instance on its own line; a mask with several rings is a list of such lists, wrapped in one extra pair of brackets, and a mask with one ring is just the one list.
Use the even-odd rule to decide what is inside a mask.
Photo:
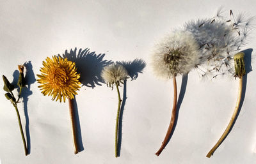
[(104, 80), (100, 76), (100, 73), (104, 66), (113, 63), (112, 61), (104, 60), (105, 55), (97, 55), (95, 52), (90, 52), (89, 48), (85, 48), (84, 50), (80, 48), (77, 52), (77, 48), (75, 48), (69, 52), (65, 50), (65, 54), (62, 57), (76, 63), (77, 73), (81, 75), (80, 82), (82, 86), (93, 88), (95, 86), (102, 86)]

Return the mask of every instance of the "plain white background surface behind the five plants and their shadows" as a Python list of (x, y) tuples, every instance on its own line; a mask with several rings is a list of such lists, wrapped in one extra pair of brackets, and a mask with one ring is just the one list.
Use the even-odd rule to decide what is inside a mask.
[[(43, 96), (31, 84), (28, 96), (31, 153), (24, 155), (15, 110), (0, 89), (0, 159), (9, 163), (256, 163), (255, 62), (248, 73), (243, 107), (226, 140), (210, 159), (207, 152), (234, 110), (238, 80), (188, 76), (173, 137), (157, 157), (170, 123), (171, 81), (152, 75), (152, 47), (168, 31), (191, 19), (212, 17), (220, 6), (256, 15), (256, 1), (0, 1), (0, 70), (12, 82), (17, 64), (31, 61), (40, 73), (47, 56), (77, 47), (106, 54), (103, 60), (145, 60), (136, 80), (127, 80), (122, 147), (114, 156), (117, 94), (105, 84), (83, 86), (76, 96), (84, 150), (73, 153), (68, 103)], [(253, 48), (255, 31), (246, 48)], [(86, 63), (85, 63), (86, 64)], [(94, 68), (92, 67), (92, 70)], [(90, 71), (90, 70), (89, 70)], [(35, 78), (34, 78), (35, 80)], [(182, 77), (177, 77), (178, 93)], [(0, 83), (3, 87), (3, 82)], [(122, 88), (120, 89), (122, 91)], [(31, 94), (32, 92), (32, 94)], [(25, 129), (23, 102), (19, 104)]]

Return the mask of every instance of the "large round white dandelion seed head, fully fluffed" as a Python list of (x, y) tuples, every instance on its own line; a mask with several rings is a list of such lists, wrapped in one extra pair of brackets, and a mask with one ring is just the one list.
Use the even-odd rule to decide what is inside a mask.
[(199, 45), (188, 31), (174, 31), (156, 44), (152, 67), (157, 77), (171, 78), (188, 73), (199, 62)]

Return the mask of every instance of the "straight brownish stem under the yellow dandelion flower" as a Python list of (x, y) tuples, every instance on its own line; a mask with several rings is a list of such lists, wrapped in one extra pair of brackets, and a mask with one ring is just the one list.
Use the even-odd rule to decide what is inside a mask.
[(78, 145), (77, 145), (77, 137), (76, 137), (76, 119), (74, 115), (74, 106), (71, 99), (68, 99), (68, 104), (69, 104), (69, 114), (70, 114), (72, 137), (73, 137), (73, 144), (74, 144), (74, 153), (77, 154)]

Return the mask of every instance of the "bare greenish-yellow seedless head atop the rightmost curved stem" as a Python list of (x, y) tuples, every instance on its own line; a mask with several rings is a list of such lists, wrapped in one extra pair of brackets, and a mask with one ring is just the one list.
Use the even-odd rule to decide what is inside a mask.
[(234, 56), (235, 61), (235, 70), (236, 75), (235, 77), (243, 77), (245, 75), (245, 68), (244, 68), (244, 52), (239, 52)]

